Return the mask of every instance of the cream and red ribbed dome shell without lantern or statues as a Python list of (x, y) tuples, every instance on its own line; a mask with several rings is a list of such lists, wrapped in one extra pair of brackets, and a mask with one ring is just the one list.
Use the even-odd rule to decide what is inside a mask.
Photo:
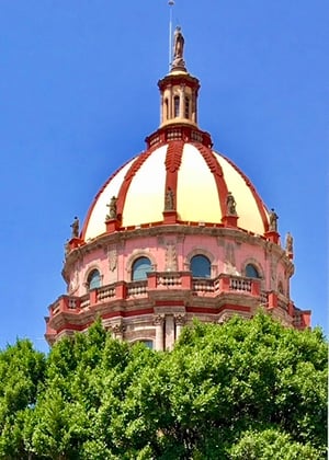
[[(193, 140), (197, 136), (198, 141)], [(122, 229), (161, 225), (163, 212), (171, 208), (174, 223), (223, 226), (229, 193), (236, 203), (237, 227), (264, 234), (269, 214), (254, 186), (229, 159), (206, 146), (208, 140), (189, 126), (171, 125), (152, 135), (148, 139), (152, 145), (102, 186), (88, 211), (82, 239), (106, 232), (112, 197)]]

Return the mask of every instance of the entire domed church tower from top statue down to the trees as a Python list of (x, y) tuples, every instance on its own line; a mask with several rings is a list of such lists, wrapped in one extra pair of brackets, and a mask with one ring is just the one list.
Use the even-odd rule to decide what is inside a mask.
[(222, 324), (262, 306), (304, 329), (310, 312), (290, 298), (293, 238), (282, 248), (277, 215), (250, 180), (213, 150), (197, 124), (198, 80), (175, 30), (170, 72), (158, 82), (160, 126), (146, 149), (114, 172), (78, 217), (65, 245), (67, 292), (49, 306), (47, 341), (86, 331), (171, 349), (194, 318)]

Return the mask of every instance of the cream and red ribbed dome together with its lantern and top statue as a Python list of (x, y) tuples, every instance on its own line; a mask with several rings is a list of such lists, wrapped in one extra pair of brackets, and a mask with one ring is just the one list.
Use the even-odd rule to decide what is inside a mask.
[(170, 72), (158, 82), (160, 126), (144, 152), (118, 169), (100, 189), (81, 240), (161, 225), (235, 227), (259, 235), (276, 231), (250, 180), (213, 150), (197, 124), (200, 81), (183, 59), (184, 38), (175, 31)]

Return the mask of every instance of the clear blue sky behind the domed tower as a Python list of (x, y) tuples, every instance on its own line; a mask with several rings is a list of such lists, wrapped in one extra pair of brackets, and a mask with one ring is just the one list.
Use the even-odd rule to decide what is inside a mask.
[[(158, 127), (168, 23), (166, 0), (1, 1), (0, 347), (47, 349), (73, 216)], [(329, 3), (177, 0), (173, 23), (200, 126), (294, 235), (292, 298), (328, 332)]]

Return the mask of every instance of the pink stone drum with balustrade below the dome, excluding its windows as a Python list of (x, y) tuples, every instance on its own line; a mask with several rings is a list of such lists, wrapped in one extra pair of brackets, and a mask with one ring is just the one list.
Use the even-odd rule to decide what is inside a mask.
[[(211, 262), (209, 278), (191, 273), (190, 261), (198, 254)], [(150, 260), (151, 272), (132, 280), (140, 256)], [(246, 276), (247, 264), (259, 278)], [(93, 269), (100, 287), (89, 289)], [(293, 273), (280, 245), (239, 229), (163, 225), (104, 234), (68, 254), (68, 291), (49, 307), (46, 337), (52, 344), (101, 317), (116, 337), (164, 349), (193, 318), (222, 323), (232, 314), (251, 318), (260, 306), (288, 326), (306, 327), (309, 312), (290, 299)]]

